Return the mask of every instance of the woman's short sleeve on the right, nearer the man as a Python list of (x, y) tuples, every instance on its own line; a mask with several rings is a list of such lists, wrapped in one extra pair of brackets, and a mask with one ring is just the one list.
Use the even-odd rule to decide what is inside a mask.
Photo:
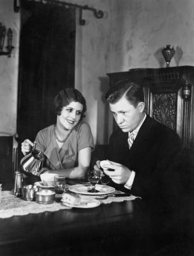
[(82, 123), (78, 131), (78, 146), (77, 150), (83, 150), (84, 148), (92, 148), (94, 150), (94, 139), (92, 131), (88, 123)]

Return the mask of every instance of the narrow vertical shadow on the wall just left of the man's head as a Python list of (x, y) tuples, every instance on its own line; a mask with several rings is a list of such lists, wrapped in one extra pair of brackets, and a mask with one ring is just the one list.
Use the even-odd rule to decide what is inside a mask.
[[(100, 93), (97, 95), (98, 101), (102, 102), (102, 104), (98, 104), (98, 115), (97, 115), (97, 144), (98, 141), (103, 141), (105, 144), (108, 143), (108, 116), (109, 116), (109, 105), (105, 100), (105, 94), (109, 89), (109, 79), (108, 77), (98, 77), (100, 80)], [(101, 138), (101, 139), (100, 139)]]

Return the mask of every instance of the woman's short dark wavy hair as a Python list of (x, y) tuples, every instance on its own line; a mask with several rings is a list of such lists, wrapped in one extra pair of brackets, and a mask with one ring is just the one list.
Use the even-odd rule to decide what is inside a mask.
[(57, 113), (57, 115), (61, 115), (63, 106), (69, 105), (72, 101), (79, 102), (83, 105), (82, 115), (80, 118), (80, 120), (82, 120), (82, 118), (85, 117), (84, 113), (87, 110), (86, 100), (81, 92), (75, 88), (65, 88), (55, 96), (55, 113)]

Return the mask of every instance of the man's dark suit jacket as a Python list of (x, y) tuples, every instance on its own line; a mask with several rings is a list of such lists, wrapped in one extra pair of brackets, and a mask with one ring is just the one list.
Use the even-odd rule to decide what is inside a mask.
[(168, 203), (178, 199), (183, 190), (179, 135), (147, 115), (130, 150), (127, 139), (121, 129), (112, 133), (108, 159), (135, 171), (131, 193)]

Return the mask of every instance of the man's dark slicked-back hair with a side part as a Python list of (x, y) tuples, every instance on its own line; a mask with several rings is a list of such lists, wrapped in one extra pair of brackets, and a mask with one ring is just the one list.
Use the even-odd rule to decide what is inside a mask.
[(126, 80), (111, 86), (105, 95), (106, 100), (110, 104), (117, 103), (123, 97), (129, 100), (136, 108), (139, 102), (144, 102), (143, 88), (138, 84)]

